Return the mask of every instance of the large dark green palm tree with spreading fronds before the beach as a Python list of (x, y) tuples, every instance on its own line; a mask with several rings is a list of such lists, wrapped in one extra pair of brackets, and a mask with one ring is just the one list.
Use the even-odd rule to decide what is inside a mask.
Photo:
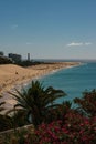
[(58, 106), (55, 100), (66, 95), (62, 90), (55, 90), (52, 86), (45, 89), (39, 81), (32, 81), (28, 90), (15, 91), (17, 94), (10, 93), (17, 100), (15, 111), (17, 107), (22, 110), (35, 126), (44, 121), (49, 110)]

